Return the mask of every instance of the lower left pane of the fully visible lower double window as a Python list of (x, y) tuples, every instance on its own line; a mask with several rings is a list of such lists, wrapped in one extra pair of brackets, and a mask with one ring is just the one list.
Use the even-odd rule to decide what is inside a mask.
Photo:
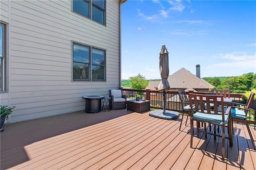
[(89, 65), (73, 63), (73, 80), (89, 80)]

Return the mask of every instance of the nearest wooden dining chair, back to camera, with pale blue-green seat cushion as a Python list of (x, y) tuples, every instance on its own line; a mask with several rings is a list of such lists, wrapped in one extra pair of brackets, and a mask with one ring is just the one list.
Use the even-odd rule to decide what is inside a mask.
[[(200, 95), (200, 94), (194, 94), (189, 93), (188, 94), (189, 101), (190, 101), (190, 107), (193, 109), (190, 109), (190, 129), (191, 129), (191, 141), (190, 141), (190, 148), (193, 146), (193, 136), (194, 136), (194, 121), (196, 121), (196, 135), (199, 138), (199, 132), (203, 132), (205, 135), (205, 138), (207, 138), (207, 134), (214, 135), (214, 140), (216, 140), (216, 136), (222, 137), (222, 159), (224, 159), (225, 155), (225, 125), (228, 125), (228, 136), (230, 141), (230, 146), (233, 145), (232, 141), (232, 122), (229, 121), (229, 112), (231, 110), (231, 107), (228, 107), (226, 112), (224, 112), (224, 97), (223, 95)], [(218, 112), (218, 101), (217, 99), (220, 98), (220, 103), (222, 107), (222, 111)], [(210, 100), (211, 99), (211, 100)], [(210, 103), (214, 103), (213, 109), (211, 109)], [(206, 107), (204, 108), (206, 103)], [(200, 106), (200, 107), (199, 107)], [(204, 109), (200, 109), (204, 108)], [(201, 123), (209, 123), (211, 125), (214, 125), (213, 133), (212, 131), (207, 131), (207, 127), (204, 126), (204, 128), (200, 127)], [(222, 127), (222, 135), (219, 135), (216, 133), (216, 125)]]

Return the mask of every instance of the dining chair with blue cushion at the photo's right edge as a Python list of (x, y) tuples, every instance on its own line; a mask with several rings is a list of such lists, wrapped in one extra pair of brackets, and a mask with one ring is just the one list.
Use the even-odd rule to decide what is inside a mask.
[[(253, 146), (254, 150), (256, 150), (256, 146), (255, 146), (255, 143), (254, 143), (254, 140), (253, 140), (253, 137), (252, 137), (252, 133), (250, 131), (248, 121), (247, 121), (247, 118), (248, 118), (247, 113), (250, 110), (250, 104), (252, 103), (254, 95), (255, 95), (255, 93), (251, 92), (250, 97), (248, 98), (246, 105), (241, 104), (241, 103), (234, 103), (233, 102), (233, 105), (235, 104), (235, 105), (238, 105), (239, 107), (231, 106), (232, 107), (231, 117), (232, 117), (232, 122), (234, 121), (234, 122), (244, 123), (246, 125), (249, 136), (250, 136), (251, 141), (252, 141), (252, 146)], [(232, 123), (232, 132), (234, 134), (233, 123)]]

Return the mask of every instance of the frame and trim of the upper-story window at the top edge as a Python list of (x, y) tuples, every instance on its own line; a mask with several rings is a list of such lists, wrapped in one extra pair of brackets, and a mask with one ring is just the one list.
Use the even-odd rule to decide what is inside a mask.
[(83, 17), (85, 17), (85, 18), (88, 18), (88, 19), (90, 19), (90, 20), (92, 20), (92, 21), (94, 21), (94, 22), (97, 22), (98, 24), (102, 24), (102, 23), (100, 23), (100, 22), (98, 22), (98, 21), (92, 19), (92, 6), (94, 6), (95, 8), (97, 8), (97, 9), (103, 11), (103, 16), (102, 16), (102, 17), (103, 17), (103, 24), (102, 24), (102, 25), (106, 26), (106, 2), (107, 2), (107, 0), (104, 0), (104, 1), (105, 1), (105, 3), (104, 3), (104, 8), (105, 8), (105, 9), (101, 8), (101, 7), (98, 6), (97, 4), (92, 3), (92, 0), (83, 0), (83, 1), (85, 1), (85, 2), (87, 2), (87, 3), (89, 4), (89, 12), (88, 12), (88, 13), (89, 13), (89, 14), (88, 14), (89, 17), (84, 16), (84, 15), (82, 15), (82, 14), (79, 14), (78, 12), (75, 12), (75, 11), (73, 10), (73, 8), (74, 8), (74, 6), (73, 6), (73, 0), (72, 0), (72, 12), (74, 12), (74, 13), (80, 15), (80, 16), (83, 16)]

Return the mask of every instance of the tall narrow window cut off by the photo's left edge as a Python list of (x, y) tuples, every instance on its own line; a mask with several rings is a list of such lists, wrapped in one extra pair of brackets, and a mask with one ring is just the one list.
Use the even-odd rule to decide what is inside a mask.
[(6, 89), (6, 25), (0, 26), (0, 91)]

